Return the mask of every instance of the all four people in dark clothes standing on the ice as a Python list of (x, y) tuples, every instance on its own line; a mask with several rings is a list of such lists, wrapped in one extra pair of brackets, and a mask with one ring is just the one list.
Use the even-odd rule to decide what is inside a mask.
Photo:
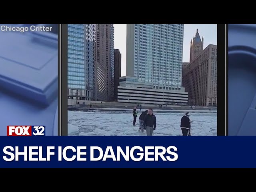
[[(138, 112), (136, 107), (133, 109), (132, 115), (133, 115), (133, 126), (135, 126), (135, 123), (138, 117)], [(189, 116), (190, 116), (190, 113), (186, 112), (186, 114), (181, 118), (180, 128), (182, 130), (182, 136), (191, 136), (190, 134), (191, 123), (194, 121), (191, 121)], [(153, 110), (148, 109), (146, 111), (143, 111), (140, 114), (139, 120), (140, 120), (140, 129), (138, 131), (144, 132), (144, 130), (146, 130), (147, 136), (152, 136), (154, 130), (156, 130), (156, 116), (153, 114)]]

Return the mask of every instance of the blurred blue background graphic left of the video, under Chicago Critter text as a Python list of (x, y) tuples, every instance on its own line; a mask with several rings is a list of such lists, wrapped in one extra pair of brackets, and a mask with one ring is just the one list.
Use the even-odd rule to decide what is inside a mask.
[(58, 136), (58, 24), (0, 24), (0, 42), (0, 136)]

